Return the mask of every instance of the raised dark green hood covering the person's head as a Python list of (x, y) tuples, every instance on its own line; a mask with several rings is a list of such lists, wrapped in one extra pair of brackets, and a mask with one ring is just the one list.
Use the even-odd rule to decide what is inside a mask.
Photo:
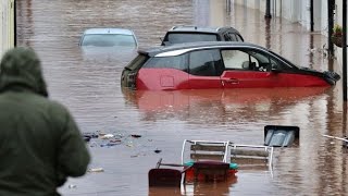
[(0, 64), (0, 93), (11, 89), (29, 89), (48, 96), (41, 63), (30, 48), (16, 47), (4, 53)]

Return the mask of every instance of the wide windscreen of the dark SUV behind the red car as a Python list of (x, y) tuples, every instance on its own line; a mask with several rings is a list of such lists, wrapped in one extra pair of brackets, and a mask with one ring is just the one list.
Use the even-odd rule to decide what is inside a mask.
[(195, 41), (216, 41), (215, 34), (197, 34), (197, 33), (171, 33), (164, 39), (165, 44), (182, 44)]

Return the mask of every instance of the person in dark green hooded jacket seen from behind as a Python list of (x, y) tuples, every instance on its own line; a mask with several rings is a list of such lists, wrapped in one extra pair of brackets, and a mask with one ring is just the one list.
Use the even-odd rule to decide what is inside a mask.
[(48, 98), (36, 52), (7, 51), (0, 64), (0, 195), (60, 195), (57, 188), (84, 175), (89, 161), (73, 117)]

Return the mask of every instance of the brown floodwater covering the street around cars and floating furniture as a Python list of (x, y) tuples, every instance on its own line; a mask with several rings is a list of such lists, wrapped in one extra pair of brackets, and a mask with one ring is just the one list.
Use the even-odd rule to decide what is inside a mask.
[[(159, 46), (174, 25), (233, 26), (245, 40), (295, 64), (340, 72), (322, 48), (326, 37), (225, 0), (16, 1), (17, 45), (42, 60), (50, 97), (70, 108), (82, 132), (114, 134), (115, 146), (89, 143), (91, 172), (70, 179), (62, 195), (346, 195), (348, 152), (323, 134), (347, 135), (341, 79), (332, 88), (127, 91), (120, 85), (132, 48), (82, 50), (90, 27), (133, 29), (139, 47)], [(148, 171), (163, 158), (179, 163), (184, 139), (263, 145), (269, 124), (300, 127), (298, 147), (275, 148), (272, 170), (240, 170), (220, 184), (188, 184), (181, 192), (148, 187)], [(141, 137), (132, 137), (132, 134)], [(156, 149), (161, 150), (159, 154)], [(72, 186), (70, 186), (72, 185)], [(175, 193), (174, 193), (175, 192)]]

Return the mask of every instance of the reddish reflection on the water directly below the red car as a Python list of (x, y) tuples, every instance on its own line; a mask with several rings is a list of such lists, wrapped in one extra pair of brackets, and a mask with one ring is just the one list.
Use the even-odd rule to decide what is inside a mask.
[(282, 112), (294, 110), (296, 105), (306, 101), (306, 98), (313, 99), (314, 96), (323, 95), (325, 91), (327, 88), (321, 87), (174, 91), (123, 89), (126, 102), (135, 105), (144, 112), (145, 121), (178, 119), (209, 124), (250, 121), (250, 119), (270, 120)]

